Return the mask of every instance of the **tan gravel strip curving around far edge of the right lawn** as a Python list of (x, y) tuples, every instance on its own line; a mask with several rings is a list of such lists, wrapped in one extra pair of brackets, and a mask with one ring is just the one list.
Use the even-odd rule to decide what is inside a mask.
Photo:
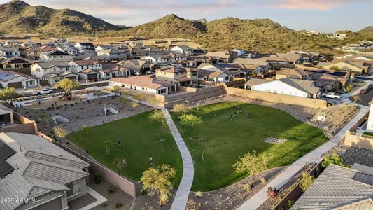
[[(349, 123), (349, 121), (356, 116), (359, 109), (358, 106), (353, 106), (353, 104), (348, 104), (346, 102), (342, 104), (337, 104), (334, 106), (329, 106), (325, 109), (311, 109), (304, 106), (294, 106), (288, 104), (275, 104), (272, 102), (264, 102), (260, 100), (244, 99), (241, 97), (234, 97), (230, 95), (225, 95), (223, 97), (215, 97), (211, 99), (204, 99), (201, 104), (213, 104), (217, 102), (227, 102), (227, 101), (239, 101), (250, 104), (258, 104), (262, 106), (274, 107), (276, 109), (281, 109), (292, 114), (298, 120), (305, 123), (314, 125), (315, 127), (323, 130), (327, 137), (332, 137), (335, 133), (341, 130), (344, 125)], [(317, 117), (319, 115), (325, 116), (325, 121), (318, 121)]]

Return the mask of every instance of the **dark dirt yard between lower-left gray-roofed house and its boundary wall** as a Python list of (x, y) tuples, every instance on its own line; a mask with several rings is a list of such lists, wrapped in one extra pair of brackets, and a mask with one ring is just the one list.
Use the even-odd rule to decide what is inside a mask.
[[(88, 184), (90, 188), (95, 190), (100, 195), (106, 197), (108, 200), (104, 204), (101, 204), (97, 207), (94, 207), (93, 209), (106, 209), (106, 210), (112, 210), (112, 209), (130, 209), (132, 206), (132, 203), (134, 202), (134, 198), (127, 195), (122, 190), (116, 188), (115, 186), (111, 186), (111, 183), (108, 183), (105, 180), (102, 180), (101, 183), (98, 185), (91, 182)], [(111, 193), (109, 193), (109, 189), (111, 190)], [(122, 206), (119, 208), (115, 207), (115, 204), (120, 203)]]

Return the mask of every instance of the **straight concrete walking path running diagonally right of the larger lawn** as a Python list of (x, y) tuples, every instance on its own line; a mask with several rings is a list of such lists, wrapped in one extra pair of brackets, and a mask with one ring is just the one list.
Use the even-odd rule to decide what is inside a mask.
[(263, 204), (267, 199), (267, 188), (269, 186), (276, 187), (277, 189), (281, 188), (285, 183), (287, 183), (297, 172), (299, 172), (304, 165), (307, 163), (313, 163), (318, 160), (321, 160), (321, 155), (323, 153), (329, 151), (333, 146), (339, 144), (339, 141), (344, 139), (346, 131), (349, 130), (353, 125), (355, 125), (358, 120), (363, 118), (363, 116), (369, 111), (367, 106), (360, 106), (360, 111), (358, 115), (353, 118), (347, 125), (345, 125), (342, 130), (340, 130), (334, 137), (332, 137), (328, 142), (323, 144), (322, 146), (316, 148), (314, 151), (307, 153), (302, 158), (293, 162), (292, 165), (287, 167), (281, 174), (276, 176), (271, 182), (267, 184), (264, 188), (262, 188), (258, 193), (253, 195), (249, 200), (244, 202), (238, 210), (248, 210), (248, 209), (257, 209)]

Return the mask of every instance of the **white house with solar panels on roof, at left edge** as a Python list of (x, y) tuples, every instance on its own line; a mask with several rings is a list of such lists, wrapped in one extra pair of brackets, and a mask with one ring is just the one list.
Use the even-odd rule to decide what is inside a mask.
[(29, 76), (23, 73), (0, 70), (1, 87), (15, 87), (15, 88), (36, 87), (39, 83), (38, 80), (39, 78), (36, 78), (34, 76)]

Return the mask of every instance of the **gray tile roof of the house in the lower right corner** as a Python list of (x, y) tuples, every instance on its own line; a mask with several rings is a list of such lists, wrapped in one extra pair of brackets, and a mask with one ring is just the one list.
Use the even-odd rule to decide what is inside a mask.
[(354, 169), (329, 165), (291, 209), (335, 209), (373, 198), (373, 186), (354, 181)]

